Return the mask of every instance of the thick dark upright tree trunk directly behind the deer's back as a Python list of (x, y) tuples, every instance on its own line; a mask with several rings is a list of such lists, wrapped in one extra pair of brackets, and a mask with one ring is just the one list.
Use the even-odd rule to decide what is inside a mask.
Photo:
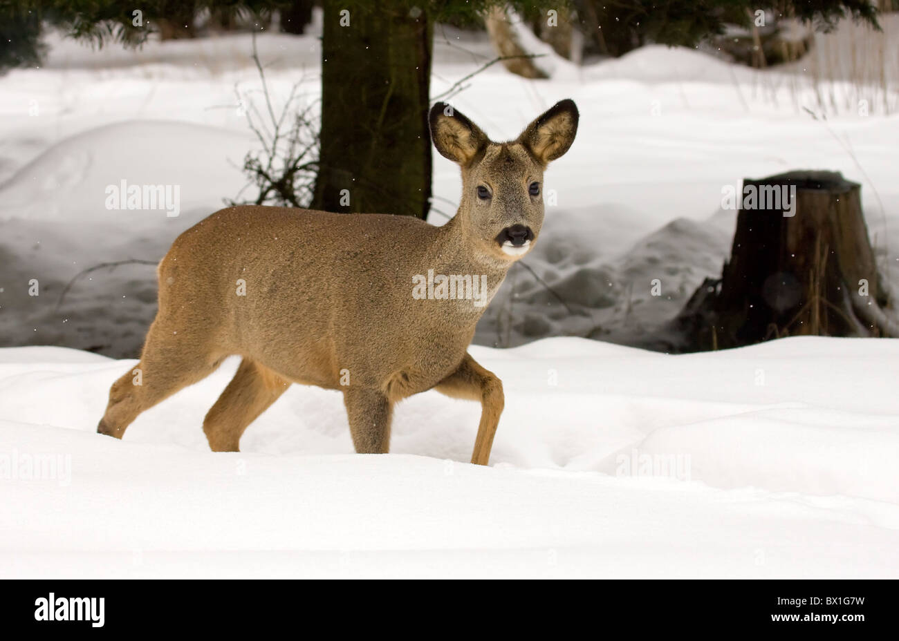
[(324, 4), (313, 207), (423, 218), (431, 198), (431, 19), (387, 0)]

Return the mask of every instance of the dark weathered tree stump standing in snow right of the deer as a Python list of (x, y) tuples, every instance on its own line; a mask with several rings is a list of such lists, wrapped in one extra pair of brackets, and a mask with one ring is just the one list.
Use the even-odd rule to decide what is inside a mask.
[(693, 349), (797, 335), (895, 334), (860, 186), (833, 171), (743, 180), (734, 244), (675, 321)]

